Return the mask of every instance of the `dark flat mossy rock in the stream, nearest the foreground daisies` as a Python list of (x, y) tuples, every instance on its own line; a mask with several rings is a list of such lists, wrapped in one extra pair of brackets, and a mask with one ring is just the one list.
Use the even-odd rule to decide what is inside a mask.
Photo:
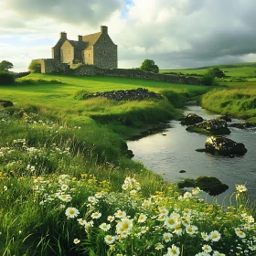
[(208, 192), (210, 196), (218, 196), (225, 192), (229, 186), (223, 184), (217, 177), (213, 176), (198, 176), (197, 179), (187, 178), (178, 182), (179, 188), (184, 187), (199, 187), (201, 190)]

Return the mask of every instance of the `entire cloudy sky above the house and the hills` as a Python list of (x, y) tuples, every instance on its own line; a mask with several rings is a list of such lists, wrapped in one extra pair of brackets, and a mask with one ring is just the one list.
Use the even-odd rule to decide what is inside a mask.
[(0, 61), (26, 71), (69, 39), (109, 27), (119, 68), (160, 69), (256, 61), (255, 0), (1, 0)]

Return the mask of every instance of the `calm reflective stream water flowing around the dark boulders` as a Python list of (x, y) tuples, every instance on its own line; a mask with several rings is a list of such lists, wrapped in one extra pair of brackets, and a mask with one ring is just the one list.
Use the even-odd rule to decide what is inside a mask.
[[(185, 115), (189, 112), (197, 113), (206, 120), (219, 116), (196, 105), (187, 105)], [(232, 123), (241, 121), (232, 120)], [(181, 125), (178, 121), (171, 121), (170, 125), (171, 128), (165, 132), (128, 141), (128, 147), (134, 154), (133, 160), (142, 162), (170, 182), (185, 177), (215, 176), (229, 186), (228, 190), (217, 197), (218, 202), (230, 196), (235, 191), (236, 184), (245, 184), (251, 202), (256, 201), (255, 129), (241, 130), (229, 127), (231, 133), (226, 136), (237, 143), (245, 144), (248, 149), (245, 155), (229, 157), (197, 152), (196, 149), (204, 148), (207, 135), (187, 132), (187, 126)], [(179, 173), (180, 170), (185, 170), (186, 173)]]

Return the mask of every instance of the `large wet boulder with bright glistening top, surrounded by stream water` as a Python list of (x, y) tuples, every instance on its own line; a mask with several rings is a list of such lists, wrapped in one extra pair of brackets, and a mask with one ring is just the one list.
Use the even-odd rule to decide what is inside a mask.
[(244, 144), (216, 135), (208, 136), (205, 147), (206, 152), (218, 155), (244, 155), (247, 152)]

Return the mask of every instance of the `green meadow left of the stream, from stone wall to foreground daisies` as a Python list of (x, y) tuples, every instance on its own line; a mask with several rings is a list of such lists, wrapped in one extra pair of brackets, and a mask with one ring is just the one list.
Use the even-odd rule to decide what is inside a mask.
[[(139, 87), (164, 100), (80, 101), (80, 91)], [(0, 109), (0, 255), (255, 255), (246, 187), (235, 205), (209, 204), (125, 156), (124, 138), (213, 89), (43, 74), (1, 86), (15, 106)]]

